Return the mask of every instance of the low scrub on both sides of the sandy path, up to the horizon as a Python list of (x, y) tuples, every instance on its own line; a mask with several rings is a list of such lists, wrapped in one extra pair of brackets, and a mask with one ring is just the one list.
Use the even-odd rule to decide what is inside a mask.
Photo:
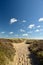
[[(43, 65), (43, 40), (28, 39), (0, 39), (0, 65), (9, 65), (13, 61), (16, 50), (12, 43), (30, 44), (30, 52), (38, 59), (39, 65)], [(10, 64), (11, 65), (11, 64)]]

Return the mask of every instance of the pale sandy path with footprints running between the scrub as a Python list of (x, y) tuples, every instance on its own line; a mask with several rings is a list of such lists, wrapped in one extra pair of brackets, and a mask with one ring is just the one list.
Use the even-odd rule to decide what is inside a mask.
[(14, 65), (31, 65), (30, 58), (28, 58), (28, 55), (30, 54), (30, 51), (28, 51), (28, 44), (25, 43), (19, 43), (19, 44), (13, 44), (14, 48), (16, 49), (16, 55), (14, 58)]

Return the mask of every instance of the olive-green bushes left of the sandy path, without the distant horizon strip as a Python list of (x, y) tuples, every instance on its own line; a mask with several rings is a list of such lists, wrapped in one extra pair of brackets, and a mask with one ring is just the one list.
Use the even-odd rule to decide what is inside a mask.
[(0, 42), (0, 65), (9, 65), (13, 61), (15, 49), (11, 43)]

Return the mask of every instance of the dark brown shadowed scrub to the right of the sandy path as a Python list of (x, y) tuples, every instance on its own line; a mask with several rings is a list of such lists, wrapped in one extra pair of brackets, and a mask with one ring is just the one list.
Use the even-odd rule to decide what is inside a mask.
[(37, 65), (43, 65), (43, 40), (27, 40), (26, 43), (30, 44), (28, 49), (31, 52), (31, 58), (33, 62), (35, 61), (34, 65), (35, 63)]

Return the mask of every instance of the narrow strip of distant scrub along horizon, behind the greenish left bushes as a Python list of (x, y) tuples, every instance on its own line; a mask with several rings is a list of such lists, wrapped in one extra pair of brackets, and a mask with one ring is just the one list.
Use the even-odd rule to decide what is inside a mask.
[(22, 38), (12, 38), (12, 39), (0, 39), (2, 43), (22, 43), (25, 39)]

